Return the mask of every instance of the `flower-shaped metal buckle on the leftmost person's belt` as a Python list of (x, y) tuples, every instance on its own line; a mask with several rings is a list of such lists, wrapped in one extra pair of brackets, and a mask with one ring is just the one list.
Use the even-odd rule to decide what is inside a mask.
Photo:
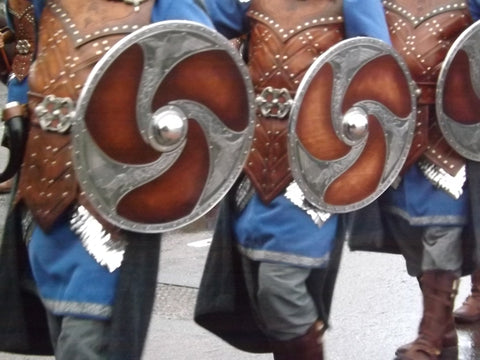
[(75, 114), (73, 100), (47, 95), (35, 107), (35, 114), (43, 130), (63, 134), (72, 126), (72, 119)]

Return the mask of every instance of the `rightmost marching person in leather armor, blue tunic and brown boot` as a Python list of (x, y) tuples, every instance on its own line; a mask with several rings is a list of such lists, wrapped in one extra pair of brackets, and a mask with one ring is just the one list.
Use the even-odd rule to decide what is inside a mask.
[[(405, 57), (418, 86), (411, 157), (398, 188), (382, 198), (389, 232), (409, 274), (418, 278), (423, 296), (418, 337), (396, 354), (399, 359), (437, 359), (457, 346), (452, 310), (462, 266), (474, 253), (465, 251), (464, 234), (474, 216), (470, 204), (476, 201), (477, 190), (466, 185), (470, 174), (476, 176), (476, 164), (467, 164), (440, 131), (435, 94), (442, 61), (472, 24), (471, 9), (478, 9), (478, 4), (385, 1), (384, 5), (393, 46)], [(442, 100), (450, 101), (446, 96)], [(478, 267), (478, 259), (472, 262)]]

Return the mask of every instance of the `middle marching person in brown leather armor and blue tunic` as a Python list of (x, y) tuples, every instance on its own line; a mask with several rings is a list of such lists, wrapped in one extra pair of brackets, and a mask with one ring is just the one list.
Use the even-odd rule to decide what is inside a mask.
[[(223, 202), (195, 320), (246, 351), (322, 359), (342, 242), (338, 215), (303, 201), (292, 183), (289, 116), (326, 50), (356, 36), (389, 42), (383, 8), (376, 0), (205, 3), (222, 34), (244, 41), (257, 121), (244, 174)], [(328, 112), (329, 99), (316, 97), (312, 108)], [(307, 126), (313, 113), (304, 114)]]

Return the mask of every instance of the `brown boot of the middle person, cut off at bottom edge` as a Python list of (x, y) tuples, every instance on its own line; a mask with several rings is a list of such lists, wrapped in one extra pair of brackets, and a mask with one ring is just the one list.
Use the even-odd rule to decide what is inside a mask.
[(323, 360), (322, 336), (325, 326), (317, 321), (307, 333), (287, 341), (272, 341), (275, 360)]

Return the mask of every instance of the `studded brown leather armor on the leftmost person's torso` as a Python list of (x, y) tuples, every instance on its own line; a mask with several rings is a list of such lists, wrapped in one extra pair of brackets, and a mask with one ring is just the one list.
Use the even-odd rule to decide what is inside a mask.
[(153, 1), (135, 7), (107, 0), (47, 1), (28, 79), (30, 132), (16, 196), (44, 230), (81, 194), (70, 134), (42, 129), (35, 109), (48, 95), (75, 101), (95, 63), (126, 34), (148, 24), (152, 6)]

